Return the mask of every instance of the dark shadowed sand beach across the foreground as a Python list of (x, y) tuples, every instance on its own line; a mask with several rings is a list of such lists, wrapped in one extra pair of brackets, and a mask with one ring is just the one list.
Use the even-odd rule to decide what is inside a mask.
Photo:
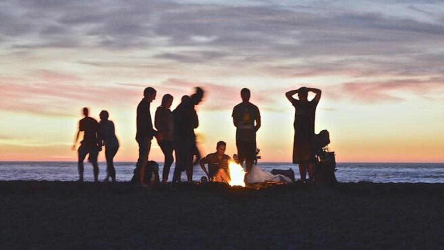
[(0, 182), (1, 249), (443, 249), (444, 184)]

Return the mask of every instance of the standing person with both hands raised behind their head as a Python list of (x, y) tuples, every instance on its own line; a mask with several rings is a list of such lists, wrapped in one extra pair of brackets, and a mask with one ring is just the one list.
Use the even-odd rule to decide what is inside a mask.
[[(310, 91), (316, 95), (311, 101), (308, 101), (308, 92)], [(295, 94), (298, 94), (299, 99), (293, 98)], [(321, 98), (321, 90), (301, 87), (297, 90), (288, 91), (285, 95), (295, 107), (293, 163), (299, 164), (302, 181), (305, 182), (306, 170), (308, 170), (308, 178), (312, 181), (315, 161), (313, 152), (314, 120), (316, 107)]]

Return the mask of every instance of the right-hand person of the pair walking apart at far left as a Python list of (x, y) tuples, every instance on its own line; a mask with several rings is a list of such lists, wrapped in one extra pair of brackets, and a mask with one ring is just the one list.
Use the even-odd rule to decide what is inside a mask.
[(98, 144), (101, 147), (105, 146), (105, 159), (106, 159), (106, 178), (103, 181), (108, 181), (109, 177), (113, 181), (116, 181), (116, 169), (114, 168), (114, 157), (119, 150), (119, 140), (116, 137), (116, 129), (113, 121), (108, 120), (109, 113), (106, 110), (102, 110), (99, 114), (100, 122), (97, 132)]

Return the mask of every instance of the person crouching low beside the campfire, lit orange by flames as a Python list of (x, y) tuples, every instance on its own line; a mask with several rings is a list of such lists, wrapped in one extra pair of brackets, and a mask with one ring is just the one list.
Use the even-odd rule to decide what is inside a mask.
[[(199, 161), (200, 167), (210, 181), (225, 183), (230, 181), (228, 164), (231, 158), (225, 154), (226, 149), (227, 143), (225, 141), (218, 141), (216, 152), (207, 155)], [(208, 171), (205, 168), (205, 164), (208, 164)]]

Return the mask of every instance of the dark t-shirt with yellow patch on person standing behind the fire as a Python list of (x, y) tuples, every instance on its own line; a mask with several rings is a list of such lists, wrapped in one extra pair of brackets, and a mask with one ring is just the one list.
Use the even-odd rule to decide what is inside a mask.
[(233, 109), (233, 118), (238, 121), (236, 141), (255, 142), (255, 120), (260, 117), (259, 109), (252, 103), (240, 103)]

